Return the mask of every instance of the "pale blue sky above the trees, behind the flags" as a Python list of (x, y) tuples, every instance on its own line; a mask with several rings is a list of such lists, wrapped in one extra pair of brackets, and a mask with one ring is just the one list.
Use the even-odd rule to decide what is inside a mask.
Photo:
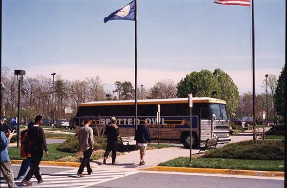
[[(84, 80), (105, 89), (134, 84), (135, 23), (104, 17), (132, 0), (3, 0), (2, 66), (26, 76)], [(221, 69), (240, 93), (252, 92), (251, 8), (214, 0), (138, 0), (137, 85), (178, 83), (193, 71)], [(285, 64), (285, 1), (255, 1), (256, 93)]]

